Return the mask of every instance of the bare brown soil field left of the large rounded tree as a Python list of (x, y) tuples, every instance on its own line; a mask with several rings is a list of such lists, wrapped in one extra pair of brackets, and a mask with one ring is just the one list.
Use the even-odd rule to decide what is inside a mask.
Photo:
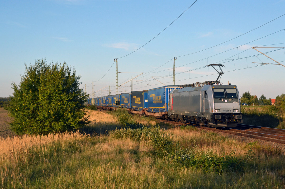
[(0, 108), (0, 137), (6, 138), (15, 135), (10, 129), (9, 122), (11, 122), (11, 117), (8, 116), (7, 110)]

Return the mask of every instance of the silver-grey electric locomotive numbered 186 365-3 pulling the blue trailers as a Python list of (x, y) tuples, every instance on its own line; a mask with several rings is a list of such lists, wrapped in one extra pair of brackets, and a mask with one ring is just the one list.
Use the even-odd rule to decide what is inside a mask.
[(170, 92), (168, 118), (209, 127), (235, 127), (242, 123), (236, 85), (206, 81), (180, 87)]

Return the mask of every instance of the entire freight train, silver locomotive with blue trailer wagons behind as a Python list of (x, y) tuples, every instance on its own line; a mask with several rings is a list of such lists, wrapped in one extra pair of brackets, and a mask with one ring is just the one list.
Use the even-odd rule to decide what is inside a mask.
[(87, 104), (107, 110), (127, 108), (133, 114), (194, 122), (208, 127), (235, 127), (242, 123), (237, 86), (222, 85), (219, 81), (89, 98)]

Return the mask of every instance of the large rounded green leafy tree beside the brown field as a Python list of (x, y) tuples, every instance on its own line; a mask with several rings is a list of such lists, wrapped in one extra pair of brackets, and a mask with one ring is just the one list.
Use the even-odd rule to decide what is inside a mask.
[(38, 59), (26, 66), (19, 87), (14, 89), (6, 108), (14, 117), (12, 129), (18, 134), (47, 134), (80, 128), (89, 123), (84, 103), (87, 95), (79, 89), (75, 69)]

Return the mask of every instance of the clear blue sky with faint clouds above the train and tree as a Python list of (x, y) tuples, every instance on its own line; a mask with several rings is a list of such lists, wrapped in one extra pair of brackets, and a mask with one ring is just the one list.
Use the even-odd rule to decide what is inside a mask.
[[(133, 91), (140, 91), (172, 85), (174, 57), (176, 85), (216, 80), (217, 72), (205, 66), (223, 64), (220, 81), (237, 85), (240, 96), (285, 93), (285, 67), (251, 48), (285, 47), (285, 1), (194, 2), (1, 1), (0, 97), (12, 95), (11, 83), (19, 85), (25, 63), (42, 58), (74, 67), (81, 88), (86, 84), (87, 93), (98, 91), (95, 96), (109, 85), (115, 94), (115, 58), (119, 85), (144, 73), (133, 80)], [(258, 50), (285, 65), (284, 48)], [(130, 86), (122, 85), (120, 93)]]

